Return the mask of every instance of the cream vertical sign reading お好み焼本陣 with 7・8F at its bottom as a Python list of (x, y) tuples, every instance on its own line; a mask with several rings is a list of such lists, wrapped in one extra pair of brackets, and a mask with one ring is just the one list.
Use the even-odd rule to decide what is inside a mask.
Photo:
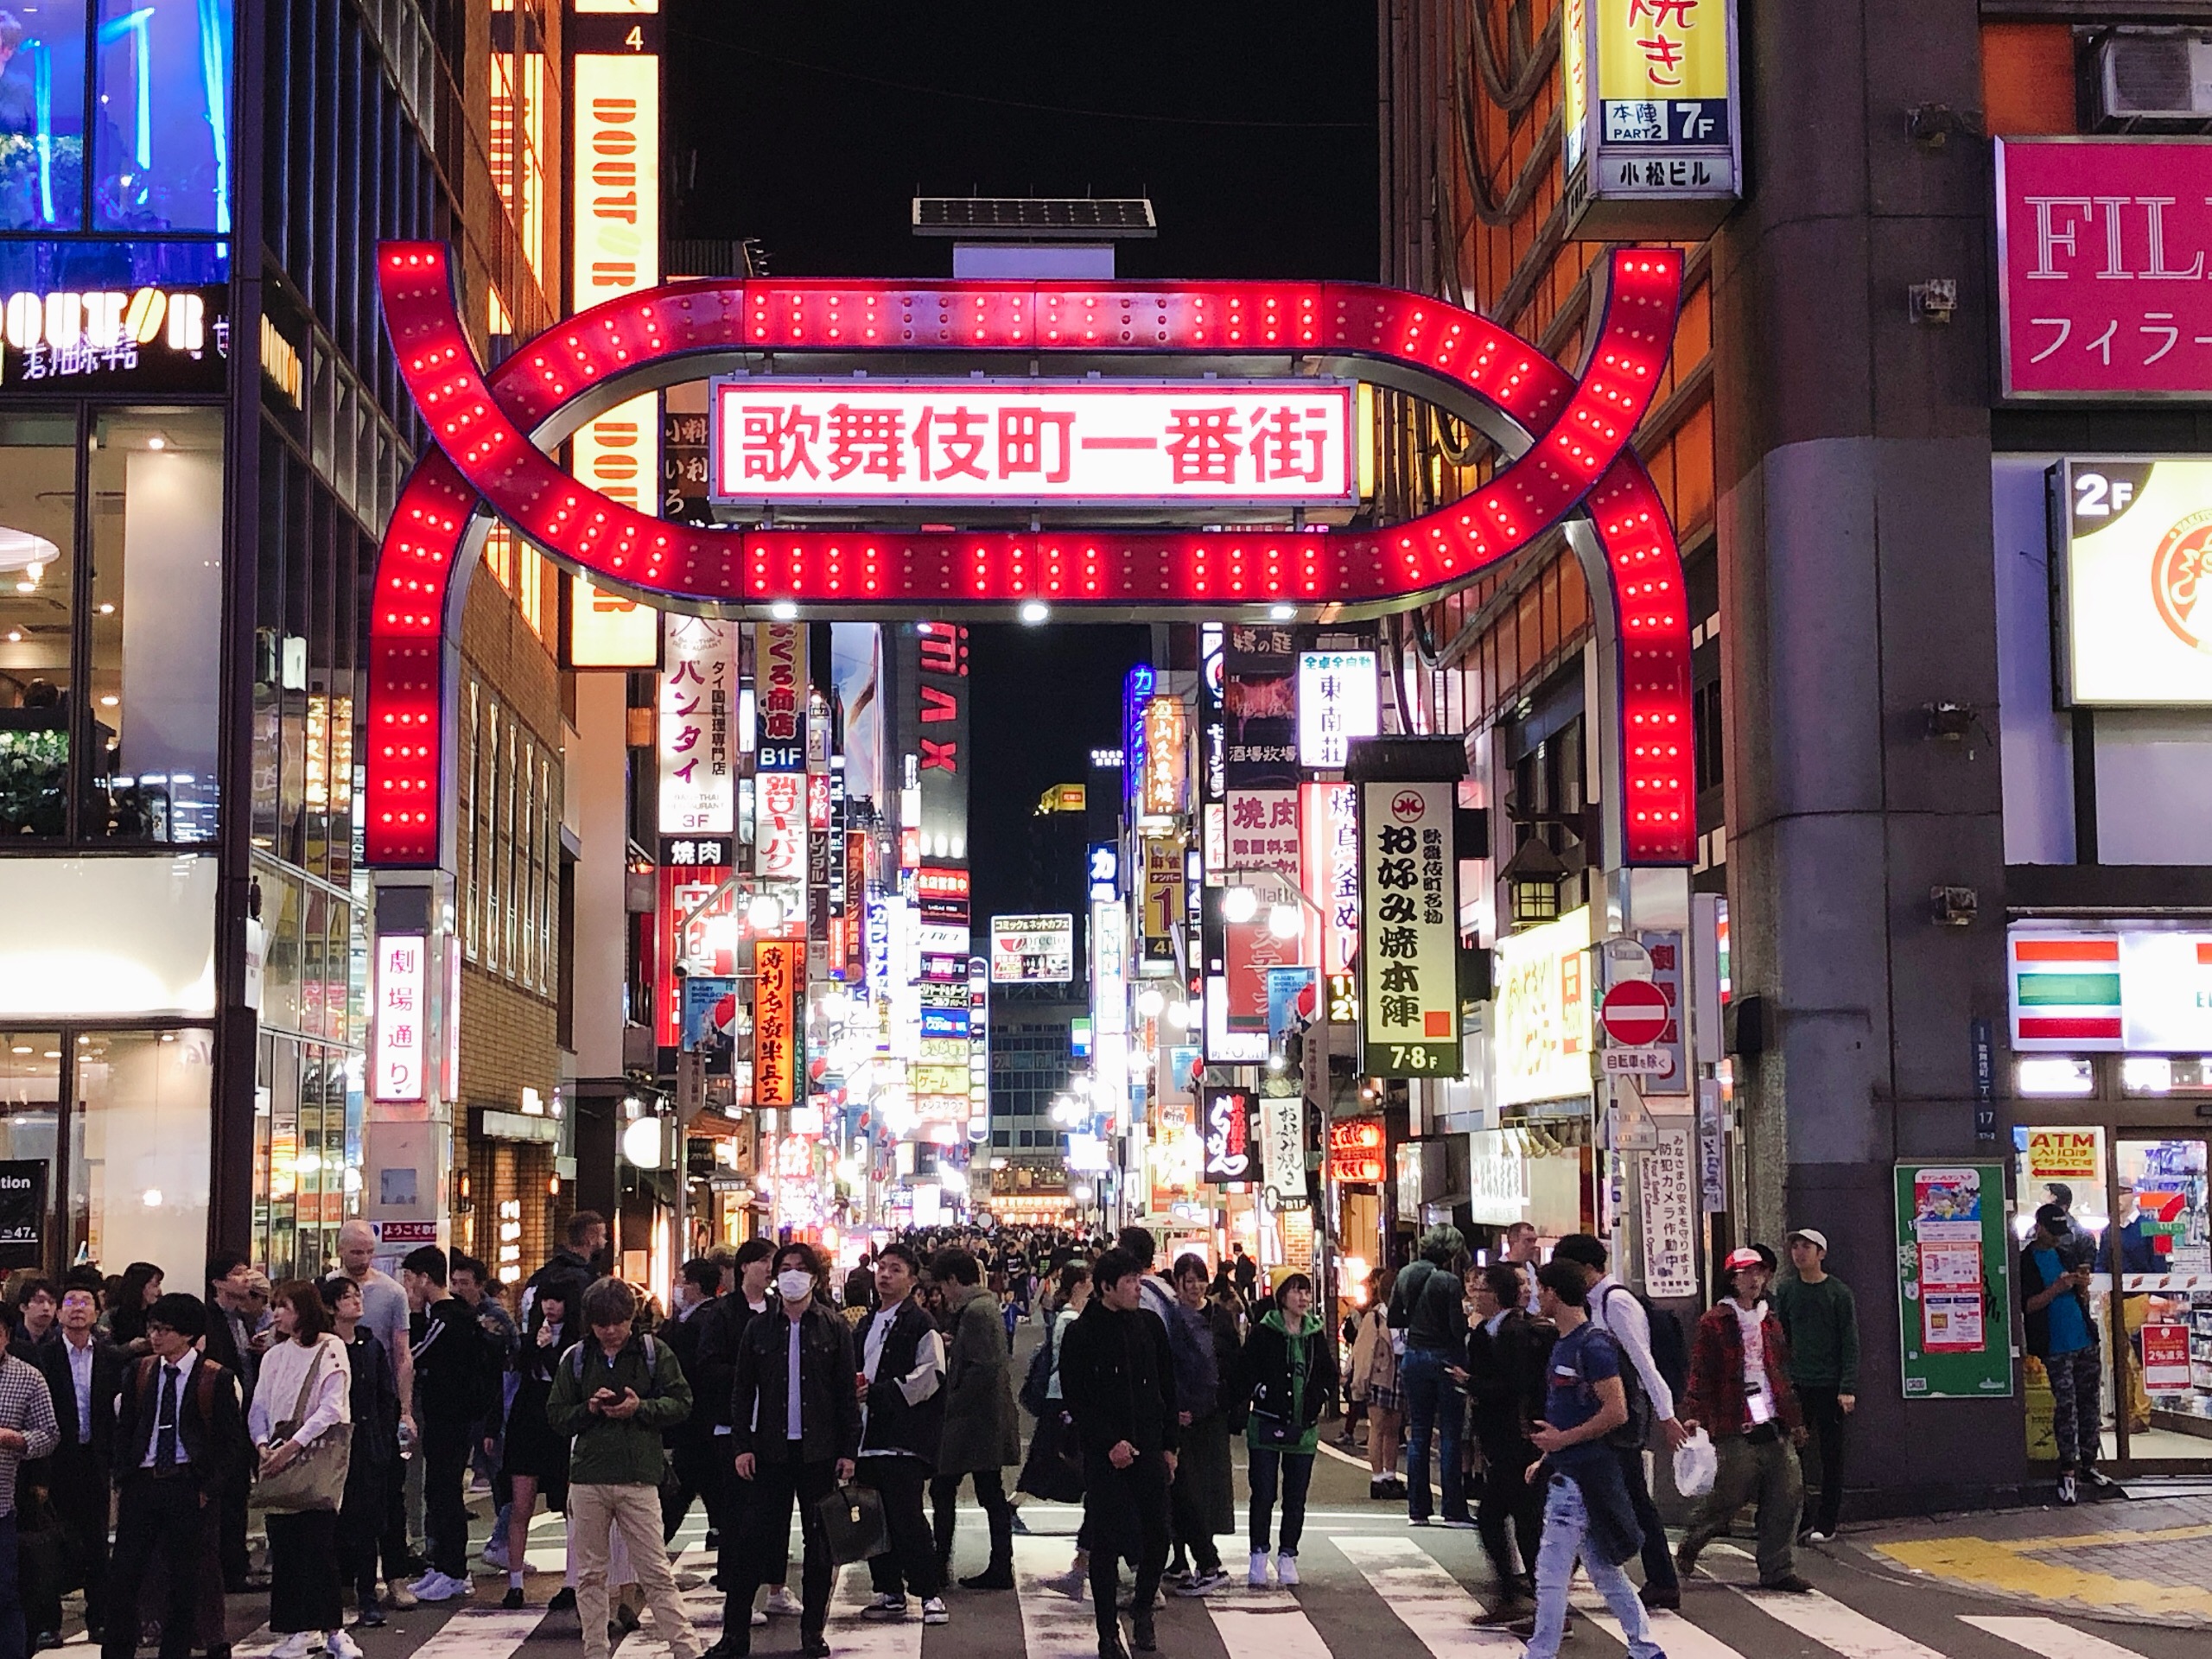
[(1360, 783), (1363, 1066), (1460, 1075), (1458, 869), (1451, 783)]

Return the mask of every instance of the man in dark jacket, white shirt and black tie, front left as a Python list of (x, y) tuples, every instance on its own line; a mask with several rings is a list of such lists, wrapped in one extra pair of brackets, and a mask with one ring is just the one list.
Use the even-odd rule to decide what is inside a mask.
[[(208, 1334), (197, 1296), (170, 1292), (146, 1310), (153, 1356), (122, 1378), (115, 1402), (115, 1559), (102, 1659), (131, 1659), (139, 1635), (139, 1586), (155, 1553), (168, 1568), (161, 1659), (190, 1659), (199, 1628), (204, 1511), (223, 1502), (246, 1467), (246, 1413), (237, 1378), (192, 1343)], [(230, 1648), (208, 1652), (230, 1659)]]

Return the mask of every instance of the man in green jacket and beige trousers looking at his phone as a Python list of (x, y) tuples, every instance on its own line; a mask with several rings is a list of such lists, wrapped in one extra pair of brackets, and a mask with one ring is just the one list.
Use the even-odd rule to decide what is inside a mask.
[(546, 1418), (575, 1436), (568, 1451), (568, 1540), (575, 1548), (575, 1606), (584, 1659), (608, 1659), (606, 1557), (615, 1531), (653, 1606), (653, 1624), (675, 1659), (699, 1659), (699, 1635), (661, 1544), (661, 1429), (692, 1409), (690, 1383), (666, 1343), (639, 1336), (637, 1292), (599, 1279), (584, 1292), (591, 1336), (553, 1371)]

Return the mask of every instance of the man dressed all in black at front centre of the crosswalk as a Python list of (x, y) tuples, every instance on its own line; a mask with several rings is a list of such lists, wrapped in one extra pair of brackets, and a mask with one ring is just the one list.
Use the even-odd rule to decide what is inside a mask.
[(1133, 1639), (1152, 1652), (1152, 1601), (1168, 1566), (1168, 1482), (1181, 1444), (1168, 1329), (1137, 1312), (1144, 1267), (1108, 1250), (1091, 1270), (1095, 1292), (1060, 1349), (1060, 1391), (1084, 1444), (1084, 1531), (1099, 1659), (1126, 1659), (1115, 1597), (1121, 1557), (1137, 1562)]

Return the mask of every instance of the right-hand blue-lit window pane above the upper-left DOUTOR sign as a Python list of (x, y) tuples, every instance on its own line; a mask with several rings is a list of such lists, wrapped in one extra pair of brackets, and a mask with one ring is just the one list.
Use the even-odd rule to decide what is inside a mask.
[(95, 230), (230, 230), (232, 0), (100, 0)]

